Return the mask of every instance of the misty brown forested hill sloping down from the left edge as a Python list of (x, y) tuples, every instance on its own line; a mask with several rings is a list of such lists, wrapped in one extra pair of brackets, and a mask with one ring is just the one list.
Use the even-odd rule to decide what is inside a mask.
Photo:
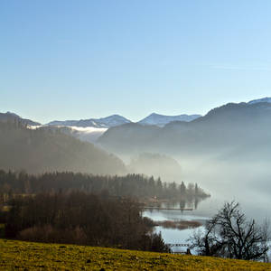
[(125, 173), (117, 156), (79, 141), (59, 130), (27, 129), (0, 122), (0, 167), (29, 173), (73, 171), (81, 173)]

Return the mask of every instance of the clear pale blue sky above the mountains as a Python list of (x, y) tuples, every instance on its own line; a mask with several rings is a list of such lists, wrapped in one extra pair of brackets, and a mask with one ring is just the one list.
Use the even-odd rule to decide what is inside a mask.
[(0, 112), (206, 114), (271, 96), (269, 0), (2, 0)]

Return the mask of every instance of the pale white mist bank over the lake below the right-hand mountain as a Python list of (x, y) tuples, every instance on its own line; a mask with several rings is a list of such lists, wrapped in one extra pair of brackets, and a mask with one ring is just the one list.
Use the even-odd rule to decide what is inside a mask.
[(259, 222), (269, 218), (270, 160), (259, 151), (254, 157), (231, 153), (235, 153), (232, 148), (224, 148), (208, 154), (147, 154), (153, 159), (146, 159), (145, 153), (133, 154), (130, 159), (118, 153), (118, 157), (126, 161), (130, 173), (161, 177), (164, 182), (198, 183), (211, 196), (201, 201), (195, 215), (211, 217), (224, 202), (238, 201), (249, 218)]

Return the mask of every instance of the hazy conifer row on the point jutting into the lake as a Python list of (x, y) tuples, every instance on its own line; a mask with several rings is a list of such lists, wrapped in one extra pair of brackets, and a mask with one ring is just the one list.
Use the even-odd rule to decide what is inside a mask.
[(35, 194), (38, 192), (89, 193), (104, 192), (118, 197), (136, 197), (138, 199), (156, 197), (157, 199), (186, 200), (188, 198), (205, 198), (208, 196), (198, 186), (182, 182), (162, 182), (160, 178), (146, 177), (142, 174), (125, 176), (91, 175), (82, 173), (43, 173), (40, 175), (25, 172), (0, 171), (0, 194)]

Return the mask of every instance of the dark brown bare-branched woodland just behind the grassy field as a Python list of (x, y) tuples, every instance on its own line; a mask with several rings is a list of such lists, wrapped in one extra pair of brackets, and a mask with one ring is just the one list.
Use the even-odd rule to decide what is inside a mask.
[(8, 238), (168, 252), (138, 202), (84, 192), (41, 193), (10, 202)]

